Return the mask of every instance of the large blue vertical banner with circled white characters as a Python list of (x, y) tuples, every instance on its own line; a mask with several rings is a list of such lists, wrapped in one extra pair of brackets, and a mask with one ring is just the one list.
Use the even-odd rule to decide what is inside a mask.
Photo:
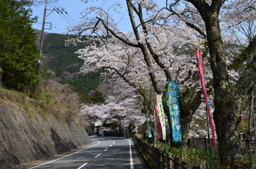
[(172, 141), (182, 142), (180, 129), (180, 111), (177, 82), (168, 82), (168, 104), (172, 122)]

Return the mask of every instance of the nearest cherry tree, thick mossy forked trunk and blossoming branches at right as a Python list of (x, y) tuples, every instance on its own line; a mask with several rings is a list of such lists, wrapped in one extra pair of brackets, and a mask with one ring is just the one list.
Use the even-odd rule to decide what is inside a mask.
[[(184, 8), (177, 8), (177, 4), (180, 3), (184, 3)], [(213, 75), (214, 122), (216, 123), (221, 163), (224, 166), (234, 168), (242, 161), (238, 128), (241, 121), (241, 110), (243, 110), (244, 103), (255, 87), (256, 59), (253, 58), (247, 64), (244, 64), (244, 61), (250, 57), (253, 48), (255, 48), (256, 38), (253, 36), (251, 41), (247, 41), (245, 50), (239, 52), (238, 57), (235, 55), (230, 66), (227, 64), (224, 42), (225, 40), (232, 40), (232, 37), (238, 37), (236, 30), (242, 28), (241, 24), (245, 19), (253, 22), (255, 19), (255, 1), (166, 1), (166, 9), (170, 11), (170, 15), (175, 15), (189, 27), (193, 27), (207, 40)], [(223, 25), (221, 20), (228, 20), (229, 17), (221, 18), (221, 16), (227, 16), (227, 13), (232, 13), (229, 17), (234, 17), (231, 21), (235, 22)], [(198, 22), (198, 20), (201, 21)], [(233, 29), (230, 29), (230, 26), (234, 26)], [(221, 32), (226, 30), (229, 32)], [(239, 38), (239, 41), (243, 41), (243, 38)], [(236, 84), (231, 85), (228, 70), (236, 69), (241, 65), (245, 66), (246, 69), (241, 73)]]

